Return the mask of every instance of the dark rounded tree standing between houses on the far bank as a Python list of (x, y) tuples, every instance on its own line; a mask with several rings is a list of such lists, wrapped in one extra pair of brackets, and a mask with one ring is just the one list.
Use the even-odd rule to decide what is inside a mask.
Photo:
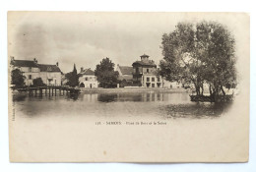
[(101, 87), (115, 87), (118, 83), (118, 72), (114, 71), (114, 63), (109, 58), (104, 58), (96, 65), (96, 77)]

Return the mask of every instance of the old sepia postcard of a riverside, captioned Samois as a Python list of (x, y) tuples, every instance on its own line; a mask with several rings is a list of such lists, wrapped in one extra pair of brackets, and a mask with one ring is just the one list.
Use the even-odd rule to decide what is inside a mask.
[(246, 162), (246, 13), (9, 12), (11, 162)]

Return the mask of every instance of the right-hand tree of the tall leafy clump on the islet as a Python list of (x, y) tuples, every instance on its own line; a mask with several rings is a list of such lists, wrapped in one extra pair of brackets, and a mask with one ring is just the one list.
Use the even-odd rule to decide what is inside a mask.
[(198, 49), (204, 56), (204, 79), (210, 86), (211, 94), (224, 92), (236, 86), (234, 38), (218, 23), (202, 22), (197, 25)]

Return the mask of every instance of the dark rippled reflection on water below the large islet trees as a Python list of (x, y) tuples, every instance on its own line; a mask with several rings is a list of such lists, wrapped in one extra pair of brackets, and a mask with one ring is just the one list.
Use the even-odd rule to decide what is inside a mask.
[(193, 104), (171, 104), (160, 107), (169, 118), (205, 118), (219, 117), (227, 112), (231, 103), (193, 103)]

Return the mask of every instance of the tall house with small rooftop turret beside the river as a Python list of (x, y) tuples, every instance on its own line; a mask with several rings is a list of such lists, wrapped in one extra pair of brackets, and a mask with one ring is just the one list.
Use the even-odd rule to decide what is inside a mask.
[(158, 75), (157, 65), (153, 60), (149, 60), (149, 55), (142, 55), (140, 61), (136, 61), (133, 66), (133, 83), (137, 86), (162, 87), (162, 79)]

